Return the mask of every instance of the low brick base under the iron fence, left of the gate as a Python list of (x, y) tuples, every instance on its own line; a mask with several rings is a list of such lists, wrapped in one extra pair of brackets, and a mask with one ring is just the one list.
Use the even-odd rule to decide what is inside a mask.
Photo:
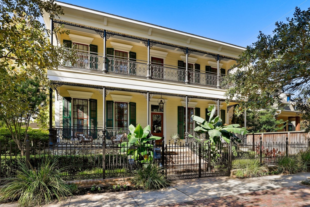
[(109, 179), (89, 179), (89, 180), (72, 180), (68, 184), (76, 184), (78, 188), (90, 188), (92, 185), (107, 187), (113, 185), (129, 185), (131, 177), (128, 178), (109, 178)]

